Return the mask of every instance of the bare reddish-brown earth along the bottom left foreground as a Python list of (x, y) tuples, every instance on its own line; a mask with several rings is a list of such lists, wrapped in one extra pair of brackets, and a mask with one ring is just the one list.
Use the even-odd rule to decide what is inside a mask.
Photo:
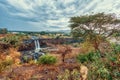
[(59, 64), (59, 65), (22, 65), (13, 67), (4, 73), (1, 73), (0, 80), (57, 80), (58, 74), (65, 69), (72, 71), (80, 70), (79, 64)]

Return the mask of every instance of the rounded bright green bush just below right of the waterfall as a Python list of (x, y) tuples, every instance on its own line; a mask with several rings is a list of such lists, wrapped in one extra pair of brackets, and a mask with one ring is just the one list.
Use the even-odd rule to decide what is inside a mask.
[(56, 62), (56, 57), (50, 55), (43, 55), (38, 59), (38, 64), (55, 64)]

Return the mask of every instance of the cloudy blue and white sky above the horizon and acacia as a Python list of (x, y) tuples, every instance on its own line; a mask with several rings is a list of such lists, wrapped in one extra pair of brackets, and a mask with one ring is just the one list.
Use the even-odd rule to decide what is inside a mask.
[(115, 13), (120, 0), (0, 0), (0, 28), (17, 31), (70, 30), (70, 17)]

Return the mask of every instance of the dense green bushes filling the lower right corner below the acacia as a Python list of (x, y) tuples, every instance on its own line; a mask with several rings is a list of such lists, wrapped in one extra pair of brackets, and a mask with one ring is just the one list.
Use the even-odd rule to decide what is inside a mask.
[[(89, 52), (87, 54), (79, 54), (77, 60), (88, 67), (88, 80), (118, 80), (119, 72), (119, 53), (120, 45), (114, 45), (113, 52), (104, 53), (101, 57), (100, 52)], [(116, 51), (117, 50), (117, 51)]]

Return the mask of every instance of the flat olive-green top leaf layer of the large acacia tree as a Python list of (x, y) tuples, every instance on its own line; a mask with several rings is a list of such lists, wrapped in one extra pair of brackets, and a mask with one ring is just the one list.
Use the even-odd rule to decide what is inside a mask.
[(89, 24), (89, 23), (95, 23), (95, 22), (103, 22), (103, 24), (109, 23), (119, 23), (119, 19), (115, 19), (113, 14), (104, 14), (104, 13), (97, 13), (93, 15), (83, 15), (83, 16), (77, 16), (77, 17), (71, 17), (70, 22), (74, 23), (80, 23), (80, 24)]

